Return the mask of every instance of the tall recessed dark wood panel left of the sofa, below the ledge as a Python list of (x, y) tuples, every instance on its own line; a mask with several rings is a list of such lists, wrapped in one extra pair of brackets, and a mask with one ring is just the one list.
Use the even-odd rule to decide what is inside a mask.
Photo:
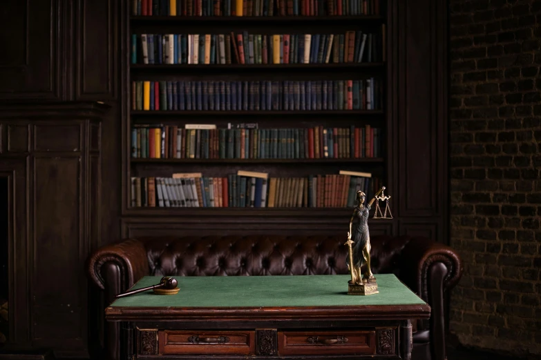
[(80, 348), (84, 339), (85, 281), (75, 271), (84, 261), (81, 160), (55, 156), (33, 161), (32, 338), (42, 346)]

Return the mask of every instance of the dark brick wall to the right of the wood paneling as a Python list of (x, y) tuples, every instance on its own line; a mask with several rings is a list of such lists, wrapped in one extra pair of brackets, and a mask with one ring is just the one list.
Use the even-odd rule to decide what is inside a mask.
[(541, 1), (450, 0), (450, 331), (541, 354)]

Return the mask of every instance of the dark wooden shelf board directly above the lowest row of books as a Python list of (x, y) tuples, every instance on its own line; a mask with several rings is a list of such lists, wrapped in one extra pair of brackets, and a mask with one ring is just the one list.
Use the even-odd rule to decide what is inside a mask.
[(143, 159), (131, 158), (131, 163), (383, 163), (381, 157), (360, 159)]

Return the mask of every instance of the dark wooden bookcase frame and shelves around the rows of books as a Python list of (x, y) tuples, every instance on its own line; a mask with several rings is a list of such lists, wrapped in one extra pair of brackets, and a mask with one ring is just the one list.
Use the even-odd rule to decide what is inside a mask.
[[(389, 190), (389, 122), (387, 110), (388, 61), (380, 54), (377, 61), (332, 63), (236, 63), (231, 49), (228, 64), (151, 64), (132, 61), (132, 34), (345, 34), (346, 31), (381, 33), (385, 24), (388, 33), (386, 0), (379, 1), (379, 14), (355, 16), (273, 16), (273, 17), (194, 17), (194, 16), (135, 16), (132, 10), (126, 18), (124, 43), (124, 100), (123, 126), (122, 210), (132, 217), (313, 217), (328, 218), (349, 213), (350, 208), (177, 208), (133, 207), (131, 203), (132, 177), (171, 177), (174, 172), (202, 172), (203, 176), (227, 177), (237, 170), (267, 172), (270, 177), (307, 177), (309, 174), (339, 174), (339, 170), (370, 172)], [(233, 2), (234, 3), (234, 2)], [(178, 10), (179, 11), (179, 10)], [(179, 11), (180, 12), (180, 11)], [(324, 30), (322, 30), (324, 29)], [(374, 39), (376, 41), (376, 39)], [(379, 49), (388, 54), (388, 41), (380, 38)], [(368, 41), (367, 41), (368, 44)], [(140, 41), (137, 42), (140, 47)], [(386, 48), (383, 49), (382, 47)], [(368, 48), (368, 46), (367, 46)], [(139, 50), (140, 52), (140, 50)], [(180, 52), (180, 50), (179, 50)], [(357, 56), (357, 55), (356, 55)], [(269, 55), (269, 61), (272, 57)], [(135, 110), (133, 81), (338, 81), (374, 78), (379, 83), (380, 106), (376, 110)], [(137, 93), (140, 96), (139, 93)], [(329, 95), (330, 96), (330, 95)], [(345, 96), (345, 95), (344, 95)], [(182, 127), (186, 123), (216, 124), (258, 123), (259, 128), (350, 128), (350, 126), (380, 129), (379, 157), (343, 157), (319, 159), (151, 159), (133, 157), (131, 130), (134, 125), (160, 124)], [(267, 188), (268, 189), (268, 188)], [(268, 190), (267, 190), (268, 192)]]

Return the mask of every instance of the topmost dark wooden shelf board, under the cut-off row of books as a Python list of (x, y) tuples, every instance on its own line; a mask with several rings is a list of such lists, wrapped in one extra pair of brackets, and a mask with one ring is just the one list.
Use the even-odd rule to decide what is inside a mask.
[(355, 21), (383, 21), (382, 15), (356, 15), (356, 16), (324, 16), (324, 17), (159, 17), (159, 16), (132, 16), (132, 25), (137, 24), (181, 24), (185, 23), (343, 23)]

